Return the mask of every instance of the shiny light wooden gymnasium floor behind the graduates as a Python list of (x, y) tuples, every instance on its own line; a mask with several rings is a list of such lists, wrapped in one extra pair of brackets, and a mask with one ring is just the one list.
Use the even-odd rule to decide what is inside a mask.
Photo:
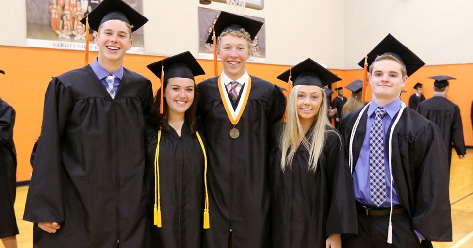
[[(435, 243), (435, 248), (473, 247), (473, 149), (468, 149), (467, 157), (458, 159), (453, 151), (450, 176), (450, 202), (452, 204), (453, 242)], [(20, 234), (17, 236), (19, 248), (32, 247), (33, 224), (22, 220), (28, 186), (16, 191), (15, 212)], [(3, 244), (0, 242), (0, 248)]]

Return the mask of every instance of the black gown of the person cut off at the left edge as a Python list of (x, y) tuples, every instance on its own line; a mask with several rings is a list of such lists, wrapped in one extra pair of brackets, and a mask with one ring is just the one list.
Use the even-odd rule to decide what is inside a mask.
[(19, 233), (13, 204), (16, 196), (15, 109), (0, 99), (0, 238)]

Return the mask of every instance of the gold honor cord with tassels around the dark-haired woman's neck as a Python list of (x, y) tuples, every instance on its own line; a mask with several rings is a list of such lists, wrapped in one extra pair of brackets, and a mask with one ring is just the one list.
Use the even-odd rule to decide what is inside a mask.
[[(204, 142), (200, 138), (199, 132), (196, 132), (200, 147), (204, 154), (204, 186), (205, 186), (205, 205), (204, 205), (204, 229), (210, 228), (209, 217), (209, 193), (207, 190), (207, 153), (205, 152)], [(156, 144), (156, 153), (154, 156), (154, 225), (162, 227), (161, 221), (161, 194), (159, 185), (159, 143), (161, 141), (161, 129), (158, 131), (158, 143)]]

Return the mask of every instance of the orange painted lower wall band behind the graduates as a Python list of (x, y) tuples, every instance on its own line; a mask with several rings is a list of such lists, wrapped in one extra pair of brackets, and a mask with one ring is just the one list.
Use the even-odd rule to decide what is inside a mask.
[[(91, 53), (90, 61), (96, 56), (97, 53)], [(18, 154), (17, 181), (30, 179), (31, 166), (29, 158), (33, 144), (41, 131), (44, 94), (51, 77), (83, 66), (83, 57), (81, 51), (0, 46), (0, 69), (6, 72), (6, 75), (0, 75), (0, 96), (16, 110), (14, 139)], [(156, 91), (159, 87), (159, 79), (145, 66), (162, 58), (159, 56), (128, 54), (125, 57), (124, 66), (149, 78), (153, 82), (153, 89)], [(209, 60), (199, 60), (199, 62), (207, 74), (196, 77), (196, 82), (213, 76), (213, 62)], [(247, 69), (252, 75), (271, 81), (281, 87), (286, 85), (284, 82), (277, 80), (276, 77), (289, 67), (288, 65), (256, 63), (248, 63), (247, 65)], [(221, 71), (221, 68), (219, 69)], [(430, 89), (432, 80), (426, 79), (426, 77), (437, 74), (457, 77), (458, 80), (451, 84), (452, 89), (448, 96), (452, 99), (452, 96), (455, 95), (453, 101), (460, 106), (462, 111), (467, 145), (473, 145), (472, 127), (469, 121), (473, 87), (460, 88), (457, 85), (468, 85), (469, 82), (473, 81), (473, 76), (468, 73), (472, 69), (473, 64), (425, 66), (409, 78), (408, 85), (405, 87), (408, 90), (415, 82), (420, 81), (424, 84), (425, 96), (431, 97), (433, 94)], [(362, 76), (361, 70), (331, 71), (343, 78), (343, 81), (338, 82), (336, 86), (344, 86)], [(345, 95), (349, 96), (349, 92), (345, 91)], [(403, 101), (407, 102), (409, 95), (410, 90), (402, 96)], [(335, 94), (333, 97), (335, 97)]]

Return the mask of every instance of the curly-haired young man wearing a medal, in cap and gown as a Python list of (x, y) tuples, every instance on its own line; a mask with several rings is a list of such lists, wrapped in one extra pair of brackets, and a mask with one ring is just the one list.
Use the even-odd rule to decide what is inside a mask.
[(271, 247), (268, 131), (286, 102), (279, 87), (246, 72), (251, 38), (262, 24), (222, 12), (215, 33), (223, 72), (197, 85), (209, 152), (204, 248)]

